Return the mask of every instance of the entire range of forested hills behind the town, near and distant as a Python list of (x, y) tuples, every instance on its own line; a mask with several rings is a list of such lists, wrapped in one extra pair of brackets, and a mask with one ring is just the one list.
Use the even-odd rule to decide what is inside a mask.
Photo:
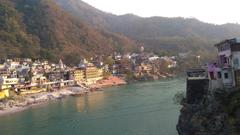
[(213, 44), (240, 35), (240, 25), (196, 19), (117, 16), (81, 0), (1, 0), (0, 58), (31, 57), (78, 63), (81, 57), (136, 50), (214, 55)]

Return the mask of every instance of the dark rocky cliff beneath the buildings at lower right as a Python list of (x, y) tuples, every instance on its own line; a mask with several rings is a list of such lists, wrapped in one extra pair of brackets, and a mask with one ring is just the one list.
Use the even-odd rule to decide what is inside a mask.
[[(240, 92), (237, 91), (237, 93)], [(199, 104), (183, 102), (177, 124), (179, 135), (239, 134), (240, 132), (237, 131), (239, 116), (236, 109), (239, 107), (239, 100), (235, 100), (237, 95), (215, 91), (208, 94)], [(230, 109), (230, 106), (234, 106), (235, 109)]]

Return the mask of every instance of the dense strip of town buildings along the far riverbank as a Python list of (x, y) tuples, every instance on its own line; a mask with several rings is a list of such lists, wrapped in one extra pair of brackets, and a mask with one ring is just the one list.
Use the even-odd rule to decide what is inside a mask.
[[(104, 58), (110, 61), (104, 63)], [(163, 62), (176, 65), (171, 57), (160, 58), (145, 53), (143, 48), (141, 53), (115, 52), (111, 56), (94, 56), (89, 61), (82, 59), (75, 67), (66, 66), (61, 59), (58, 64), (28, 58), (7, 59), (0, 65), (0, 99), (11, 96), (10, 93), (22, 95), (73, 85), (88, 86), (111, 75), (126, 80), (154, 78), (163, 75)]]

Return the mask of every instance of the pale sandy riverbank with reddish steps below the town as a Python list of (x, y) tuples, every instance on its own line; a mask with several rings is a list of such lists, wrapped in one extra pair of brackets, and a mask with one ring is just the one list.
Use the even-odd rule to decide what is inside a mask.
[(101, 81), (98, 81), (95, 84), (88, 86), (90, 90), (83, 89), (81, 87), (68, 87), (61, 90), (55, 90), (53, 92), (42, 92), (42, 93), (19, 95), (19, 96), (16, 95), (11, 99), (6, 99), (0, 102), (0, 116), (23, 111), (28, 107), (46, 103), (52, 100), (61, 99), (66, 96), (83, 96), (85, 94), (102, 90), (102, 88), (125, 85), (125, 84), (127, 83), (124, 80), (118, 77), (110, 76), (107, 79), (103, 79)]

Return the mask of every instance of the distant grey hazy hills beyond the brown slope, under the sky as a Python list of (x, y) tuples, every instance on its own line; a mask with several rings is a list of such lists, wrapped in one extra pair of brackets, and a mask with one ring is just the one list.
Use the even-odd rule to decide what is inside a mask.
[(213, 44), (240, 35), (240, 25), (214, 25), (197, 19), (113, 15), (81, 0), (55, 0), (66, 11), (92, 25), (122, 33), (155, 52), (213, 51)]

